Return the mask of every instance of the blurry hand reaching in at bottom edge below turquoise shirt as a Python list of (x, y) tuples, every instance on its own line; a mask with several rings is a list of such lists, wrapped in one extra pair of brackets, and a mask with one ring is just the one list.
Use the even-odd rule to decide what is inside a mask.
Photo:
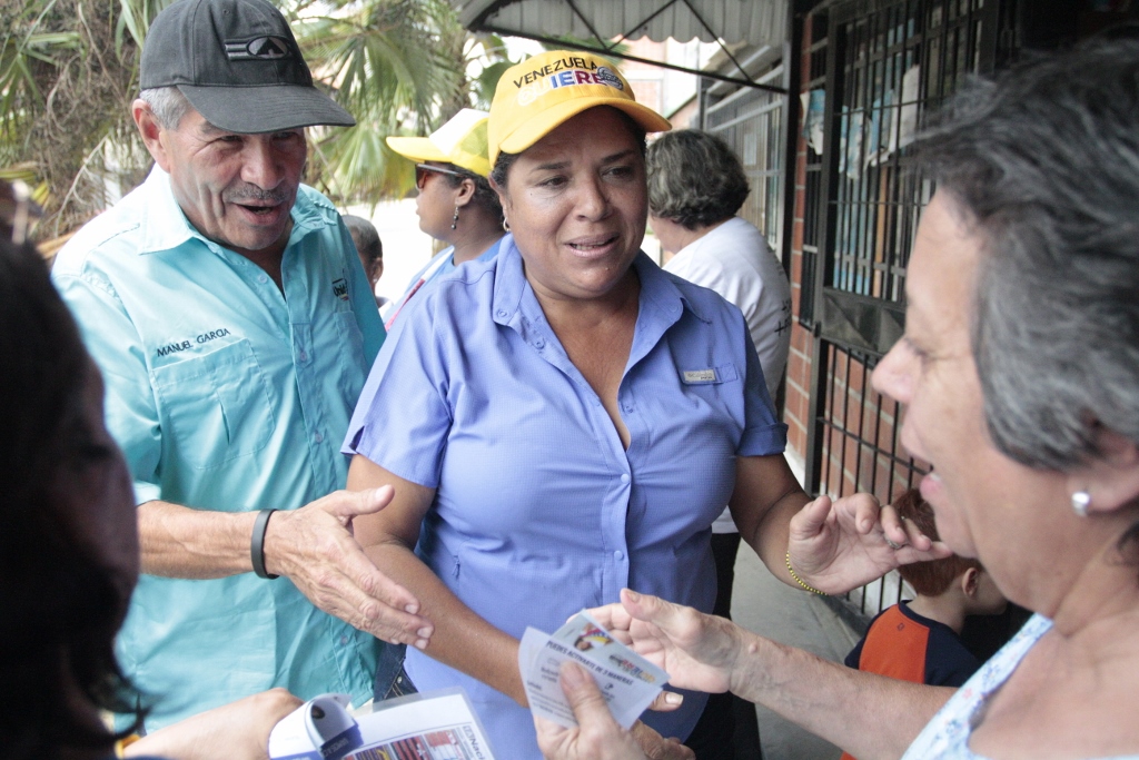
[(301, 704), (282, 688), (270, 689), (148, 734), (123, 754), (170, 760), (267, 760), (269, 732)]

